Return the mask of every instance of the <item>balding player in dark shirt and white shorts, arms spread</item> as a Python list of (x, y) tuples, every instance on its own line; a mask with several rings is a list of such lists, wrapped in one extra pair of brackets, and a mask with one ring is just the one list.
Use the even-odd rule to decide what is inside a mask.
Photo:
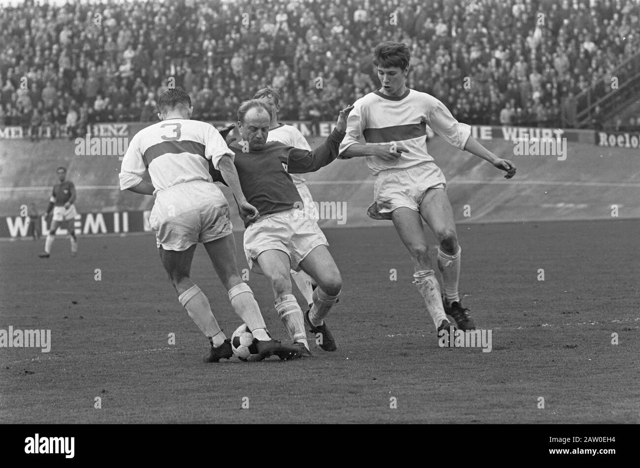
[[(237, 111), (241, 141), (230, 145), (234, 155), (220, 154), (212, 166), (223, 175), (235, 166), (248, 203), (257, 208), (257, 221), (249, 220), (244, 231), (244, 254), (249, 267), (271, 281), (275, 309), (294, 345), (310, 355), (304, 321), (325, 351), (335, 351), (335, 340), (324, 318), (335, 304), (342, 278), (317, 222), (306, 215), (291, 174), (317, 171), (336, 159), (346, 119), (353, 107), (340, 111), (336, 129), (325, 143), (308, 151), (268, 142), (271, 115), (259, 100), (243, 102)], [(220, 180), (214, 176), (214, 180)], [(318, 287), (312, 308), (303, 317), (292, 295), (291, 270), (303, 270)]]

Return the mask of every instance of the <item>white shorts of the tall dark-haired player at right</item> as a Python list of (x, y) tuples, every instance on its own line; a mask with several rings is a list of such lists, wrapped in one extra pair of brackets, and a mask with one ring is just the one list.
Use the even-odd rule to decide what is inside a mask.
[(428, 189), (444, 189), (446, 185), (444, 174), (433, 162), (408, 169), (389, 169), (378, 173), (374, 200), (380, 213), (390, 213), (401, 207), (419, 211)]

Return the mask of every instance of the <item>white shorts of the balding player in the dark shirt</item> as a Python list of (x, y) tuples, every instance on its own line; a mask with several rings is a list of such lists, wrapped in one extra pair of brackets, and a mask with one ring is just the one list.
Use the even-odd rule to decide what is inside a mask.
[(246, 263), (256, 273), (262, 273), (257, 259), (264, 251), (283, 251), (289, 256), (291, 270), (300, 271), (300, 262), (313, 249), (328, 245), (317, 222), (297, 208), (260, 217), (244, 231)]

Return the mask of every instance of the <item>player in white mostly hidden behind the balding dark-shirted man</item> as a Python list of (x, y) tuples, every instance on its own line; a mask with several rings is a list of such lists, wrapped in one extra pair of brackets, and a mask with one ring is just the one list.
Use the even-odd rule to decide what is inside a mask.
[[(311, 151), (307, 139), (301, 134), (300, 130), (296, 129), (293, 125), (287, 125), (285, 123), (278, 122), (278, 112), (280, 112), (280, 93), (275, 88), (263, 88), (253, 95), (253, 99), (257, 99), (264, 104), (269, 113), (271, 114), (271, 122), (269, 123), (269, 141), (280, 141), (287, 146), (293, 146), (294, 148), (302, 148), (303, 150)], [(307, 187), (307, 180), (303, 174), (290, 174), (293, 183), (296, 184), (296, 189), (300, 193), (303, 209), (305, 214), (308, 214), (309, 219), (318, 222), (320, 215), (316, 210), (314, 199), (311, 196), (311, 192)], [(314, 285), (312, 279), (308, 274), (302, 270), (296, 272), (291, 270), (291, 277), (296, 282), (298, 289), (305, 297), (309, 308), (312, 308), (314, 301), (312, 298)], [(337, 301), (336, 301), (337, 302)]]

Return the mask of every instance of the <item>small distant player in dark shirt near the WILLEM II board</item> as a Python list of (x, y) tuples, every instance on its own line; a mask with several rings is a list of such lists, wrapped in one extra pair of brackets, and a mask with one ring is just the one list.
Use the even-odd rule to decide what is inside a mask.
[(53, 218), (51, 229), (49, 229), (49, 233), (47, 233), (47, 238), (44, 242), (44, 252), (38, 255), (40, 258), (49, 258), (51, 246), (56, 238), (56, 231), (63, 222), (67, 223), (67, 230), (69, 232), (69, 238), (71, 239), (71, 254), (76, 256), (78, 251), (76, 231), (74, 228), (74, 220), (77, 215), (76, 206), (74, 205), (76, 202), (76, 186), (70, 180), (66, 180), (66, 168), (58, 168), (56, 172), (58, 173), (60, 183), (56, 183), (56, 185), (53, 186), (53, 192), (49, 199), (47, 215), (53, 210)]

